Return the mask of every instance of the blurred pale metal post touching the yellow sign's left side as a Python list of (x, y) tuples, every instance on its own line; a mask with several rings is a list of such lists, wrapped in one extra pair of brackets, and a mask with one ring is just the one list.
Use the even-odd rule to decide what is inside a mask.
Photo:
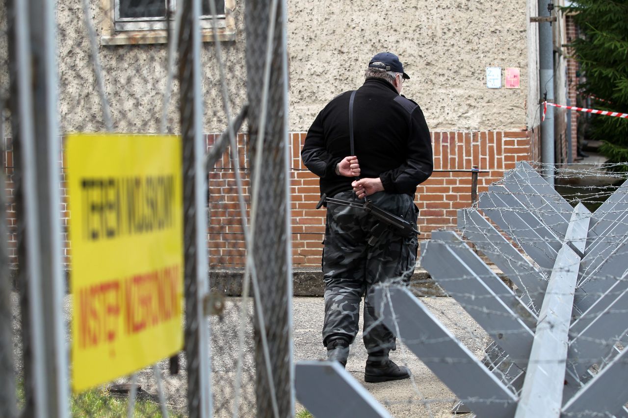
[(58, 127), (57, 30), (52, 0), (30, 0), (31, 51), (33, 53), (33, 121), (37, 170), (38, 231), (43, 297), (42, 318), (48, 403), (51, 417), (69, 415), (68, 350), (63, 319), (66, 294), (62, 266), (60, 159)]

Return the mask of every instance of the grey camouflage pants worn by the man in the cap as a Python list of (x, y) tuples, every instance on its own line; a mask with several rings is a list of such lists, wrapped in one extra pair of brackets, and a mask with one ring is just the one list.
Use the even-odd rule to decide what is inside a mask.
[[(355, 200), (353, 191), (333, 196)], [(388, 212), (416, 224), (418, 215), (408, 195), (379, 192), (369, 198)], [(396, 348), (393, 333), (376, 323), (373, 286), (386, 281), (407, 283), (414, 272), (418, 240), (400, 237), (386, 229), (374, 245), (367, 244), (377, 218), (361, 208), (328, 203), (323, 279), (325, 323), (323, 345), (330, 336), (345, 336), (353, 343), (358, 331), (360, 300), (364, 296), (364, 345), (369, 353)]]

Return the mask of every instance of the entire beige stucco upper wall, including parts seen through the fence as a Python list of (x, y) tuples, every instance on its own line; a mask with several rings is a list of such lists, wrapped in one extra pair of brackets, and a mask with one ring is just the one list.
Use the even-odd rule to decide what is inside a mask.
[[(533, 2), (535, 3), (535, 2)], [(235, 112), (246, 99), (244, 6), (232, 11), (236, 41), (222, 44)], [(404, 94), (421, 105), (433, 130), (524, 129), (530, 58), (529, 10), (525, 2), (443, 0), (288, 1), (290, 131), (305, 131), (338, 93), (357, 88), (377, 51), (397, 53), (411, 80)], [(99, 40), (99, 0), (92, 1)], [(80, 0), (58, 3), (60, 114), (63, 132), (104, 129), (102, 108), (89, 60)], [(203, 44), (205, 130), (219, 132), (222, 111), (213, 43)], [(166, 80), (165, 45), (99, 46), (107, 99), (116, 131), (158, 130)], [(521, 88), (486, 88), (485, 68), (521, 68)], [(176, 132), (178, 87), (169, 110)], [(537, 89), (538, 90), (538, 89)]]

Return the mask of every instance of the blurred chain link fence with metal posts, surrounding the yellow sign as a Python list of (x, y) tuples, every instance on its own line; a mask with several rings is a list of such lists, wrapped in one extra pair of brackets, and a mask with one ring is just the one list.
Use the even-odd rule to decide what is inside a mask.
[[(290, 321), (286, 316), (290, 300), (287, 293), (290, 264), (286, 255), (289, 242), (285, 239), (287, 164), (281, 151), (286, 134), (286, 83), (282, 85), (273, 79), (271, 84), (266, 82), (264, 92), (262, 85), (257, 85), (249, 87), (256, 88), (256, 92), (247, 93), (244, 35), (249, 28), (244, 28), (243, 3), (203, 0), (198, 2), (200, 10), (194, 10), (193, 4), (183, 0), (73, 0), (55, 5), (58, 136), (72, 132), (180, 134), (185, 161), (185, 350), (131, 376), (72, 394), (67, 400), (67, 410), (74, 416), (119, 416), (127, 411), (133, 411), (134, 416), (276, 415), (279, 407), (284, 415), (293, 409), (290, 356), (286, 357), (290, 351)], [(268, 9), (269, 4), (252, 2), (251, 7)], [(275, 60), (279, 56), (284, 60), (280, 65), (284, 66), (285, 56), (281, 54), (285, 51), (282, 35), (285, 11), (278, 2), (273, 7), (279, 19), (273, 23), (273, 55), (269, 58)], [(9, 73), (13, 71), (14, 83), (22, 76), (18, 63), (9, 60), (9, 40), (15, 40), (16, 35), (9, 36), (7, 25), (13, 19), (8, 13), (15, 13), (15, 9), (16, 4), (11, 1), (0, 8), (3, 108), (11, 99), (16, 100), (9, 94)], [(200, 14), (197, 21), (192, 18), (194, 13)], [(196, 31), (195, 24), (199, 26)], [(266, 21), (252, 19), (248, 24), (254, 26), (250, 30), (265, 43), (268, 17)], [(265, 50), (266, 45), (251, 50), (257, 53), (257, 48)], [(265, 57), (262, 52), (250, 59), (252, 62)], [(262, 68), (253, 70), (259, 73), (249, 78), (261, 80)], [(273, 68), (273, 72), (273, 77), (285, 77), (284, 67)], [(238, 77), (232, 77), (234, 74)], [(256, 114), (255, 119), (249, 115), (242, 127), (247, 116), (241, 112), (245, 101), (254, 101), (257, 109), (268, 106), (268, 112), (263, 116)], [(242, 115), (238, 126), (227, 129), (238, 112)], [(5, 115), (9, 117), (3, 113), (3, 128)], [(258, 136), (249, 132), (259, 132), (259, 126), (266, 136), (264, 139), (262, 134), (260, 144), (278, 158), (274, 169), (279, 167), (284, 174), (280, 178), (269, 173), (257, 174), (264, 185), (259, 189), (266, 193), (269, 187), (273, 196), (270, 201), (263, 196), (264, 203), (255, 209), (251, 198), (254, 146), (249, 137), (257, 140)], [(243, 134), (247, 128), (249, 132)], [(217, 141), (223, 131), (226, 142), (220, 145)], [(3, 211), (1, 223), (8, 230), (3, 229), (3, 237), (7, 239), (2, 240), (0, 253), (3, 277), (0, 367), (6, 388), (3, 391), (6, 398), (1, 404), (3, 416), (12, 417), (18, 409), (28, 411), (29, 404), (30, 412), (37, 415), (32, 405), (38, 387), (29, 377), (33, 371), (28, 369), (33, 366), (24, 355), (33, 347), (32, 324), (24, 317), (30, 306), (28, 293), (15, 292), (31, 281), (28, 274), (16, 274), (28, 270), (29, 260), (17, 250), (18, 245), (28, 240), (20, 235), (19, 209), (16, 209), (19, 206), (16, 195), (22, 183), (15, 174), (20, 174), (23, 168), (16, 167), (16, 172), (13, 171), (16, 146), (11, 140), (11, 129), (2, 132), (6, 188), (0, 199), (7, 210)], [(273, 147), (279, 153), (272, 151)], [(217, 154), (212, 164), (205, 161), (207, 151)], [(57, 161), (61, 170), (63, 238), (55, 245), (62, 252), (64, 271), (69, 271), (71, 208), (64, 155), (65, 150)], [(276, 211), (277, 207), (281, 210)], [(269, 216), (273, 219), (271, 223)], [(28, 228), (21, 222), (21, 228)], [(249, 229), (251, 232), (247, 232)], [(273, 259), (279, 259), (279, 267), (273, 267)], [(283, 280), (279, 277), (283, 293), (276, 293), (278, 272), (283, 274)], [(274, 295), (278, 295), (275, 301), (271, 297)], [(71, 298), (71, 295), (63, 298), (63, 334), (67, 346), (71, 345)], [(264, 310), (268, 307), (264, 308), (263, 301), (271, 307), (280, 303), (284, 308), (274, 318)], [(262, 372), (257, 372), (257, 368)], [(256, 385), (265, 386), (256, 393)], [(17, 391), (12, 389), (14, 386)], [(273, 393), (272, 405), (264, 403), (269, 399), (268, 392)]]

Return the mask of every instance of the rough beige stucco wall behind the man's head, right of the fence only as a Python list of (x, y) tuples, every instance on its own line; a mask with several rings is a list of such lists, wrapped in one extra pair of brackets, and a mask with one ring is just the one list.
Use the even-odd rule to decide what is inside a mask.
[[(525, 2), (443, 0), (288, 2), (290, 126), (358, 87), (374, 53), (390, 50), (411, 80), (404, 94), (431, 129), (522, 129), (528, 94)], [(486, 88), (486, 67), (521, 68), (520, 89)]]

